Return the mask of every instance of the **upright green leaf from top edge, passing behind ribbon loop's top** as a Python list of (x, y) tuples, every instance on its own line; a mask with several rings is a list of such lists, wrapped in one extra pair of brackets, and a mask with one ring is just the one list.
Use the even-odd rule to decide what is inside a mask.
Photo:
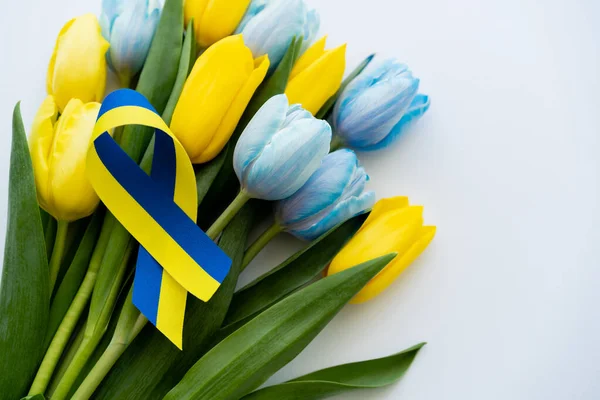
[[(136, 87), (159, 114), (165, 110), (177, 79), (182, 42), (183, 3), (166, 0)], [(145, 126), (127, 125), (123, 129), (121, 147), (139, 163), (153, 132), (154, 129)]]

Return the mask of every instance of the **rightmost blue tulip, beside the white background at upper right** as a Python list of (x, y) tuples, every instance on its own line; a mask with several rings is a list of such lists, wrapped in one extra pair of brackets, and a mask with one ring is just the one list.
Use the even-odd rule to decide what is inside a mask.
[(419, 80), (408, 66), (386, 60), (368, 67), (344, 89), (333, 111), (333, 126), (343, 145), (377, 150), (391, 144), (429, 108), (417, 95)]

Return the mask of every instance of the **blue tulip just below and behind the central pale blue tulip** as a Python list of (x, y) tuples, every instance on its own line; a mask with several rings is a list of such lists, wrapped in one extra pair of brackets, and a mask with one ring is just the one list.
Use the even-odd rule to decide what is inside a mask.
[(352, 150), (334, 151), (300, 190), (277, 202), (277, 223), (300, 239), (313, 240), (373, 207), (375, 193), (364, 191), (368, 180)]

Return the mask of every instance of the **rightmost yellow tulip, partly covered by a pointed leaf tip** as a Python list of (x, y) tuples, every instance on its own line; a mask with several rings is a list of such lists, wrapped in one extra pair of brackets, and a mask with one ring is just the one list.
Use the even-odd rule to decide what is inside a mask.
[(435, 226), (423, 226), (423, 207), (409, 206), (408, 198), (378, 201), (371, 214), (331, 262), (327, 275), (396, 252), (393, 259), (352, 299), (362, 303), (383, 292), (425, 250), (435, 236)]

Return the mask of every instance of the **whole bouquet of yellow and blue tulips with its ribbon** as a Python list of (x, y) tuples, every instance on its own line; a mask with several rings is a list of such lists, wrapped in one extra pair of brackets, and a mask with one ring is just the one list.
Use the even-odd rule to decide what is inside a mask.
[[(29, 139), (14, 111), (2, 399), (317, 399), (404, 374), (423, 344), (261, 388), (435, 234), (354, 153), (425, 113), (419, 80), (346, 72), (318, 31), (303, 0), (103, 0), (64, 25)], [(236, 291), (282, 232), (306, 246)]]

